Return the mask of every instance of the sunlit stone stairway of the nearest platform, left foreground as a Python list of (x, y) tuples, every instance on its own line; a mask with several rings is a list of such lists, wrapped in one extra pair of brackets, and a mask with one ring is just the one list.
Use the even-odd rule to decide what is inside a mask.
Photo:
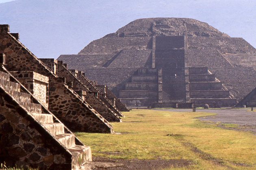
[[(54, 140), (61, 144), (67, 153), (72, 154), (72, 169), (79, 169), (82, 164), (91, 161), (91, 148), (83, 145), (82, 142), (80, 142), (63, 123), (50, 113), (47, 108), (39, 103), (33, 95), (17, 81), (17, 79), (12, 77), (8, 72), (3, 71), (4, 70), (0, 71), (0, 88), (3, 89), (5, 93), (12, 96), (17, 104), (27, 111), (28, 115), (32, 115), (34, 120), (37, 121), (37, 125), (43, 127)], [(43, 146), (46, 147), (46, 149), (49, 149), (47, 148), (49, 146)]]

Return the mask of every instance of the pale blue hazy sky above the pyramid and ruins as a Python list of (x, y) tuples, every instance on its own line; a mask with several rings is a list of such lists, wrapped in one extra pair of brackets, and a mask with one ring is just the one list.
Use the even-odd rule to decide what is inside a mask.
[(0, 4), (0, 23), (19, 32), (38, 57), (76, 54), (92, 40), (148, 17), (198, 19), (256, 47), (255, 8), (256, 0), (16, 0)]

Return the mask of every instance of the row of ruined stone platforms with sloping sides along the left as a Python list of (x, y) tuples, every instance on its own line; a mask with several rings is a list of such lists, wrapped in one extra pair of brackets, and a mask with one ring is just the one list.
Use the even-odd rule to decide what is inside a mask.
[(0, 25), (0, 162), (7, 166), (79, 169), (91, 161), (91, 149), (69, 129), (112, 133), (106, 119), (121, 121), (76, 72), (50, 64)]

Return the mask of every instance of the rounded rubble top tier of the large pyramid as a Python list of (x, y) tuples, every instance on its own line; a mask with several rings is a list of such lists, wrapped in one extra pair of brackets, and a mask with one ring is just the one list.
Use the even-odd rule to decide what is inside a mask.
[(105, 37), (114, 36), (227, 36), (219, 30), (209, 26), (208, 23), (189, 18), (146, 18), (136, 19), (117, 30), (116, 33)]

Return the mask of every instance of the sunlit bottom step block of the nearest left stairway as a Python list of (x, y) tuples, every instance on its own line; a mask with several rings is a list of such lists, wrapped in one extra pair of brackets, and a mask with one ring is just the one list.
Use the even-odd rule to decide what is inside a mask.
[(72, 169), (80, 169), (87, 161), (92, 161), (91, 147), (75, 145), (68, 149), (72, 153)]

